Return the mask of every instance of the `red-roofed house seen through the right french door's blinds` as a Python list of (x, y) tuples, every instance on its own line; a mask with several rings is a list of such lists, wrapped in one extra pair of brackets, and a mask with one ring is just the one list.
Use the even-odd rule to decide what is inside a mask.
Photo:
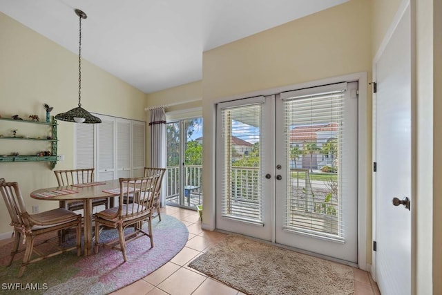
[[(337, 138), (338, 123), (332, 122), (329, 124), (317, 124), (309, 126), (297, 126), (290, 131), (290, 147), (298, 146), (300, 151), (304, 149), (305, 144), (314, 143), (318, 149), (322, 149), (323, 144), (329, 140)], [(323, 166), (334, 166), (334, 155), (320, 153), (316, 151), (313, 158), (310, 155), (302, 154), (295, 161), (291, 160), (291, 168), (313, 168), (321, 169)], [(311, 162), (311, 165), (310, 165)]]

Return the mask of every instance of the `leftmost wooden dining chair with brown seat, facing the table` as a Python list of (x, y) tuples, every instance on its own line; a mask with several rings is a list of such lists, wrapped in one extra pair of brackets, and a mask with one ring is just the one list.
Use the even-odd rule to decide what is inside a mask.
[[(77, 256), (81, 254), (81, 215), (76, 214), (73, 211), (66, 210), (64, 208), (52, 209), (49, 211), (29, 214), (26, 211), (26, 206), (23, 202), (23, 197), (19, 189), (19, 184), (17, 182), (0, 182), (1, 195), (6, 203), (6, 208), (10, 214), (12, 227), (14, 227), (14, 246), (12, 247), (10, 260), (8, 266), (12, 264), (15, 254), (19, 252), (19, 242), (21, 235), (23, 234), (23, 244), (26, 243), (26, 249), (24, 249), (25, 254), (23, 257), (23, 262), (19, 269), (18, 277), (23, 276), (23, 272), (26, 265), (29, 263), (34, 263), (45, 258), (61, 254), (66, 251), (71, 251), (77, 249)], [(57, 236), (54, 235), (52, 238), (43, 240), (38, 244), (34, 245), (35, 238), (42, 234), (48, 234), (50, 232), (58, 232), (63, 229), (69, 229), (74, 227), (77, 232), (77, 243), (73, 247), (61, 248), (58, 243), (52, 243), (51, 241), (56, 239)], [(44, 242), (50, 242), (59, 249), (51, 254), (42, 254), (38, 249), (34, 247), (41, 245)], [(23, 250), (20, 250), (23, 251)], [(32, 252), (35, 252), (39, 257), (31, 260)]]

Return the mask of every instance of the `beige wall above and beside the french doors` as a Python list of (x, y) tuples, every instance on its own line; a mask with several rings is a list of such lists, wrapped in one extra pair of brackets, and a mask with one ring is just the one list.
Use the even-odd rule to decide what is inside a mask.
[[(350, 73), (367, 72), (371, 77), (370, 3), (369, 0), (352, 0), (204, 53), (203, 202), (204, 216), (208, 215), (204, 218), (204, 227), (215, 227), (215, 102), (223, 97), (240, 97), (243, 93), (259, 93), (268, 88)], [(367, 96), (366, 108), (370, 114), (371, 94), (368, 90)], [(367, 129), (364, 136), (368, 142), (369, 163), (370, 122), (367, 122)], [(367, 187), (371, 187), (371, 179), (367, 182)], [(371, 216), (369, 191), (367, 195), (367, 216)], [(371, 261), (371, 230), (369, 218), (367, 263)]]

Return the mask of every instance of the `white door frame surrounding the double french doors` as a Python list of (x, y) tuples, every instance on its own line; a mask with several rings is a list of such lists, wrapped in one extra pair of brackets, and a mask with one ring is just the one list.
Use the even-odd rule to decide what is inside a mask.
[[(211, 110), (213, 111), (213, 117), (215, 117), (216, 105), (221, 102), (227, 102), (229, 100), (242, 99), (245, 97), (256, 96), (269, 96), (286, 91), (294, 91), (296, 89), (309, 88), (314, 86), (322, 86), (327, 84), (335, 84), (338, 82), (358, 82), (358, 267), (365, 271), (369, 271), (370, 265), (367, 265), (367, 189), (369, 169), (371, 169), (371, 154), (369, 153), (367, 143), (371, 134), (367, 129), (367, 73), (359, 72), (349, 75), (341, 75), (336, 77), (329, 77), (327, 79), (320, 79), (311, 82), (305, 82), (301, 84), (294, 84), (278, 88), (269, 88), (262, 91), (255, 91), (252, 93), (243, 93), (241, 95), (233, 95), (231, 97), (222, 97), (216, 99), (212, 103)], [(211, 132), (211, 140), (216, 142), (215, 123), (213, 122), (213, 131)], [(209, 124), (206, 124), (206, 128), (209, 128)], [(207, 136), (209, 137), (209, 136)], [(206, 166), (212, 167), (213, 184), (215, 184), (215, 154), (210, 162)], [(215, 186), (211, 188), (211, 196), (216, 196)], [(216, 229), (216, 208), (215, 198), (204, 198), (204, 211), (207, 211), (202, 223), (202, 229), (213, 230)]]

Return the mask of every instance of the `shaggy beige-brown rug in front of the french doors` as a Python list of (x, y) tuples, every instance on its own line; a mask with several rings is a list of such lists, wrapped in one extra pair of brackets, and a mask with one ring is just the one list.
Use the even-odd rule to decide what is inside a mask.
[(245, 294), (354, 294), (353, 269), (231, 235), (189, 267)]

